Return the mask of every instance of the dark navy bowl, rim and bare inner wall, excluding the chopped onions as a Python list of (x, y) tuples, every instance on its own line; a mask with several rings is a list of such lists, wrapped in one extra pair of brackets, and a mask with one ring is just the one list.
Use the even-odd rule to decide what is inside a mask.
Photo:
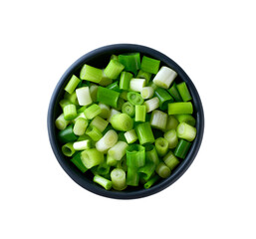
[[(82, 173), (67, 157), (65, 157), (62, 154), (61, 145), (57, 139), (55, 119), (61, 114), (61, 109), (58, 103), (63, 98), (64, 88), (66, 84), (68, 83), (69, 79), (73, 74), (79, 76), (80, 69), (84, 64), (87, 63), (94, 67), (104, 68), (109, 63), (112, 54), (119, 55), (122, 53), (132, 52), (139, 52), (141, 55), (146, 55), (148, 57), (160, 60), (162, 65), (172, 68), (177, 73), (178, 77), (176, 78), (175, 82), (184, 81), (187, 84), (187, 87), (193, 99), (194, 118), (196, 119), (197, 135), (194, 141), (192, 142), (191, 148), (186, 158), (180, 162), (178, 167), (173, 170), (173, 172), (168, 178), (160, 180), (159, 182), (157, 182), (155, 185), (148, 189), (144, 189), (142, 187), (128, 187), (125, 191), (107, 191), (93, 182), (92, 175), (90, 173)], [(63, 167), (63, 169), (75, 182), (77, 182), (85, 189), (94, 192), (98, 195), (118, 199), (133, 199), (145, 197), (163, 190), (164, 188), (168, 187), (173, 182), (175, 182), (186, 171), (186, 169), (194, 160), (202, 141), (204, 129), (204, 116), (202, 104), (193, 83), (185, 74), (185, 72), (175, 62), (173, 62), (171, 59), (169, 59), (162, 53), (148, 47), (133, 44), (116, 44), (96, 49), (84, 55), (65, 72), (65, 74), (62, 76), (61, 80), (57, 84), (52, 95), (48, 110), (47, 123), (49, 138), (55, 156), (61, 164), (61, 166)]]

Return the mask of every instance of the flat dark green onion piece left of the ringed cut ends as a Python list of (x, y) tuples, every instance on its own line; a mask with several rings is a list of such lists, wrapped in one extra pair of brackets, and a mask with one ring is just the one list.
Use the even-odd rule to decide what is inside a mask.
[(113, 108), (118, 107), (120, 93), (108, 88), (99, 87), (97, 93), (97, 101)]

